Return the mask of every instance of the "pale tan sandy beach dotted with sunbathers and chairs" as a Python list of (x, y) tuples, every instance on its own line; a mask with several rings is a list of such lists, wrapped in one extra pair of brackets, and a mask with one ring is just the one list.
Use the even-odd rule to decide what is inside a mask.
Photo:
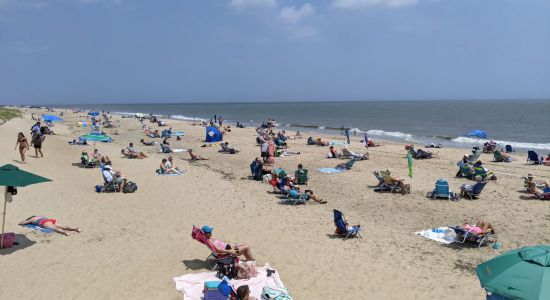
[[(229, 155), (218, 153), (218, 146), (200, 147), (203, 127), (167, 120), (185, 132), (182, 141), (171, 139), (171, 148), (192, 148), (209, 160), (193, 162), (187, 152), (173, 153), (186, 175), (157, 176), (155, 169), (168, 155), (158, 146), (140, 145), (144, 134), (136, 119), (114, 116), (119, 135), (97, 148), (138, 190), (100, 194), (94, 190), (102, 183), (99, 169), (79, 166), (80, 153), (91, 152), (93, 145), (67, 143), (89, 131), (76, 126), (83, 113), (66, 113), (65, 121), (56, 123), (56, 134), (44, 141), (44, 158), (35, 158), (31, 147), (27, 164), (20, 163), (13, 147), (17, 133), (28, 135), (34, 123), (30, 112), (0, 126), (0, 163), (52, 182), (20, 188), (8, 204), (6, 231), (15, 232), (20, 245), (0, 252), (0, 299), (182, 299), (172, 278), (208, 268), (209, 250), (191, 238), (193, 224), (208, 224), (217, 237), (250, 245), (258, 265), (276, 268), (294, 299), (484, 299), (475, 275), (479, 263), (518, 247), (550, 243), (549, 202), (525, 193), (521, 179), (532, 173), (550, 180), (550, 167), (528, 165), (525, 154), (513, 154), (511, 163), (494, 163), (492, 155), (482, 154), (498, 180), (489, 182), (478, 200), (453, 202), (429, 200), (426, 193), (439, 178), (447, 179), (453, 191), (471, 183), (454, 177), (456, 162), (469, 150), (436, 149), (437, 157), (415, 160), (410, 181), (404, 144), (381, 141), (382, 146), (369, 149), (370, 159), (352, 170), (323, 174), (317, 169), (342, 161), (327, 159), (327, 147), (290, 140), (289, 150), (300, 154), (276, 158), (275, 167), (292, 174), (303, 164), (310, 172), (308, 188), (328, 204), (289, 206), (279, 204), (268, 184), (248, 179), (249, 165), (260, 154), (254, 128), (233, 128), (224, 137), (239, 150)], [(361, 138), (352, 137), (352, 150), (365, 151)], [(149, 158), (122, 158), (120, 150), (129, 142)], [(387, 168), (407, 178), (411, 194), (373, 191), (372, 171)], [(332, 209), (361, 224), (363, 237), (334, 238)], [(56, 218), (83, 232), (65, 237), (17, 225), (31, 215)], [(502, 248), (446, 246), (414, 233), (465, 220), (491, 222)]]

